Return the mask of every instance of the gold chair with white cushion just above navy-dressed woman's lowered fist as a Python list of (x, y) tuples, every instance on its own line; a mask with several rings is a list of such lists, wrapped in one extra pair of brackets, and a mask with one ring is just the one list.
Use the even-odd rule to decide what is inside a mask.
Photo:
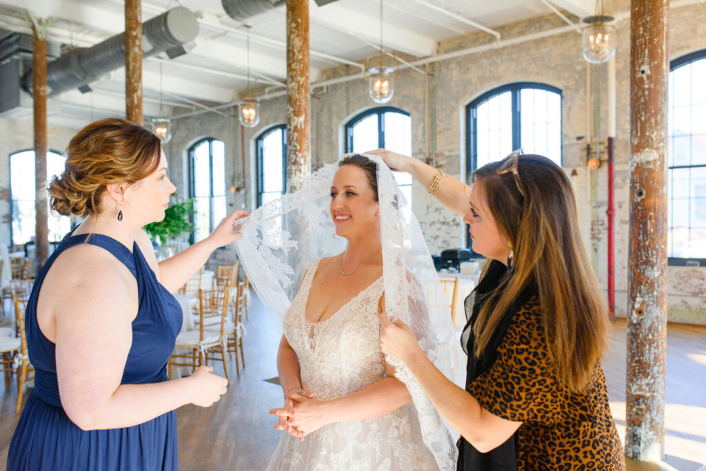
[[(198, 330), (187, 330), (177, 336), (175, 347), (189, 350), (186, 354), (172, 353), (169, 357), (168, 374), (172, 377), (172, 366), (197, 366), (208, 364), (208, 360), (223, 362), (226, 379), (228, 366), (225, 359), (227, 337), (225, 323), (228, 318), (229, 285), (222, 290), (199, 290), (198, 292)], [(220, 353), (220, 358), (215, 354)], [(175, 361), (174, 359), (181, 359)]]

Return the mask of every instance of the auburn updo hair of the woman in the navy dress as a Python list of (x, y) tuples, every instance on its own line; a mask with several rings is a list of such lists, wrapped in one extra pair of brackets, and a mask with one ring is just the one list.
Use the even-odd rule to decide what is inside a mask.
[(107, 184), (147, 177), (159, 156), (160, 138), (143, 126), (120, 118), (95, 121), (68, 143), (64, 172), (49, 182), (49, 203), (64, 216), (96, 214)]

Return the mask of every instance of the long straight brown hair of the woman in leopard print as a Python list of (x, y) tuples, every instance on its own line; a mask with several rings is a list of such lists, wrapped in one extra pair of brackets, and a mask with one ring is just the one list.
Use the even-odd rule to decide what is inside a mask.
[(563, 169), (541, 155), (522, 155), (517, 162), (523, 197), (512, 173), (498, 175), (501, 162), (477, 169), (498, 229), (515, 253), (513, 274), (479, 312), (474, 325), (475, 354), (488, 346), (493, 330), (522, 290), (537, 287), (549, 359), (559, 381), (570, 390), (589, 381), (607, 344), (607, 306), (588, 260), (578, 227), (576, 202)]

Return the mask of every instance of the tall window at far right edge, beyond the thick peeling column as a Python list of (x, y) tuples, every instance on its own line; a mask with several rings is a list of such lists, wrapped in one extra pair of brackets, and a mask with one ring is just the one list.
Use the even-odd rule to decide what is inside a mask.
[(667, 254), (706, 265), (706, 49), (671, 61)]

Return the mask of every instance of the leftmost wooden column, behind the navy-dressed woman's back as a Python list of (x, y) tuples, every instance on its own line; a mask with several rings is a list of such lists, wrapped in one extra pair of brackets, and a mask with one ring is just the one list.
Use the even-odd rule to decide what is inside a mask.
[(32, 18), (32, 95), (35, 121), (35, 258), (37, 266), (49, 257), (47, 198), (47, 37), (44, 20)]

